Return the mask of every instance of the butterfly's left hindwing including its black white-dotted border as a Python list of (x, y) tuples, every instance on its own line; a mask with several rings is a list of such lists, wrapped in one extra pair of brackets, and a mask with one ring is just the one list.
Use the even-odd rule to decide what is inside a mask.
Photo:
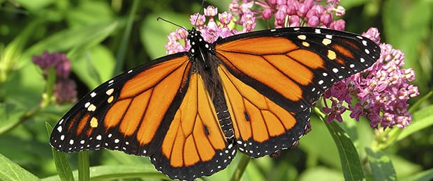
[(191, 74), (161, 149), (151, 156), (152, 163), (170, 178), (181, 180), (211, 175), (235, 157), (236, 148), (223, 135), (214, 104), (197, 72)]

